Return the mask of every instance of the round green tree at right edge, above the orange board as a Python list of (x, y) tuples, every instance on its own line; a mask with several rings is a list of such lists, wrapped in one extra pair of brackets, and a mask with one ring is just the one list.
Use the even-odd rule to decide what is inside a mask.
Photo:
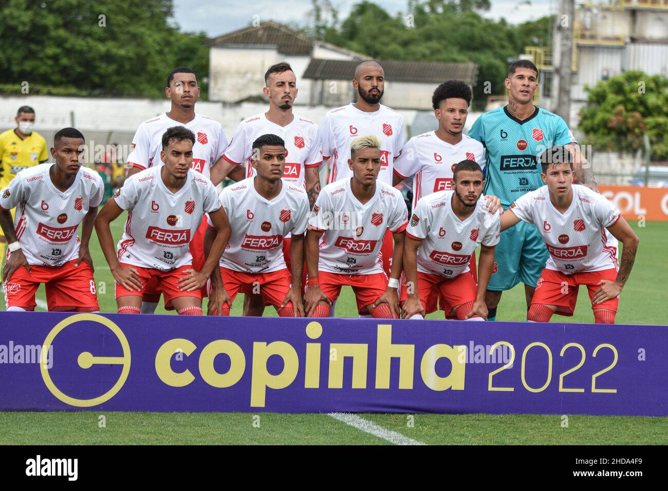
[(595, 87), (585, 86), (580, 130), (596, 148), (633, 151), (645, 134), (653, 160), (668, 160), (668, 78), (627, 71)]

